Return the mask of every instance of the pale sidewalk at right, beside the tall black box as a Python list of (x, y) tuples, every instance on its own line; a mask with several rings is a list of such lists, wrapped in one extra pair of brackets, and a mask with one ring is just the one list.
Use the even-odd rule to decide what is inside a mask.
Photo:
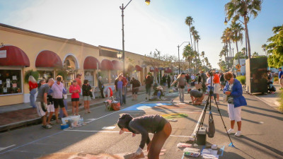
[(265, 102), (265, 104), (270, 105), (270, 107), (274, 108), (275, 110), (278, 110), (280, 106), (280, 93), (282, 93), (282, 90), (279, 90), (281, 87), (280, 84), (273, 83), (273, 85), (276, 88), (276, 92), (274, 94), (267, 93), (267, 95), (254, 95), (255, 98), (258, 98), (258, 100), (261, 100), (262, 102)]

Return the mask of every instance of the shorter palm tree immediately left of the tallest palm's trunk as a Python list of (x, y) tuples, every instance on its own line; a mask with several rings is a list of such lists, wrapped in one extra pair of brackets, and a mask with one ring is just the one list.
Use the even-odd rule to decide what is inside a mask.
[[(231, 23), (232, 40), (236, 43), (236, 49), (238, 53), (238, 41), (243, 43), (243, 27), (240, 23)], [(240, 64), (240, 59), (238, 58), (238, 64)]]

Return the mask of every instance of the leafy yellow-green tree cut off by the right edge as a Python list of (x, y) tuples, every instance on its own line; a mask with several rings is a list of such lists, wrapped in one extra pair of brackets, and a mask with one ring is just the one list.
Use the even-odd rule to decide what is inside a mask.
[(270, 42), (267, 45), (267, 54), (270, 54), (268, 57), (268, 65), (270, 67), (279, 68), (283, 66), (283, 25), (273, 27), (273, 35), (268, 38), (267, 42)]

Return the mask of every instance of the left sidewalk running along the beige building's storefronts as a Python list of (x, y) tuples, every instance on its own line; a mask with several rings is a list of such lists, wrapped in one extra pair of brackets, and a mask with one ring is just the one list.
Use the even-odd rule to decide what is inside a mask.
[[(144, 93), (145, 86), (139, 88), (139, 94)], [(115, 95), (114, 95), (115, 96)], [(132, 90), (127, 91), (127, 98), (132, 97)], [(91, 100), (90, 107), (104, 105), (103, 102), (107, 98), (96, 98)], [(68, 96), (69, 100), (69, 96)], [(80, 99), (79, 110), (84, 110), (83, 99)], [(71, 114), (71, 101), (67, 102), (68, 114)], [(36, 112), (36, 108), (30, 106), (30, 103), (22, 103), (17, 105), (7, 105), (0, 107), (0, 132), (9, 129), (16, 129), (21, 126), (28, 126), (31, 124), (40, 124), (42, 121)]]

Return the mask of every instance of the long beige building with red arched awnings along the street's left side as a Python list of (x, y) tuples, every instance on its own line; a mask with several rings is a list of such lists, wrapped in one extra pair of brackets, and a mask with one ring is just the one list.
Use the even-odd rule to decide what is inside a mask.
[[(122, 61), (119, 49), (94, 46), (75, 39), (65, 39), (36, 33), (0, 23), (0, 106), (29, 102), (30, 90), (23, 78), (25, 71), (40, 73), (40, 78), (55, 78), (63, 71), (68, 88), (76, 74), (98, 86), (98, 76), (105, 86), (112, 87)], [(143, 65), (144, 56), (125, 52), (125, 70), (144, 84), (149, 66)]]

